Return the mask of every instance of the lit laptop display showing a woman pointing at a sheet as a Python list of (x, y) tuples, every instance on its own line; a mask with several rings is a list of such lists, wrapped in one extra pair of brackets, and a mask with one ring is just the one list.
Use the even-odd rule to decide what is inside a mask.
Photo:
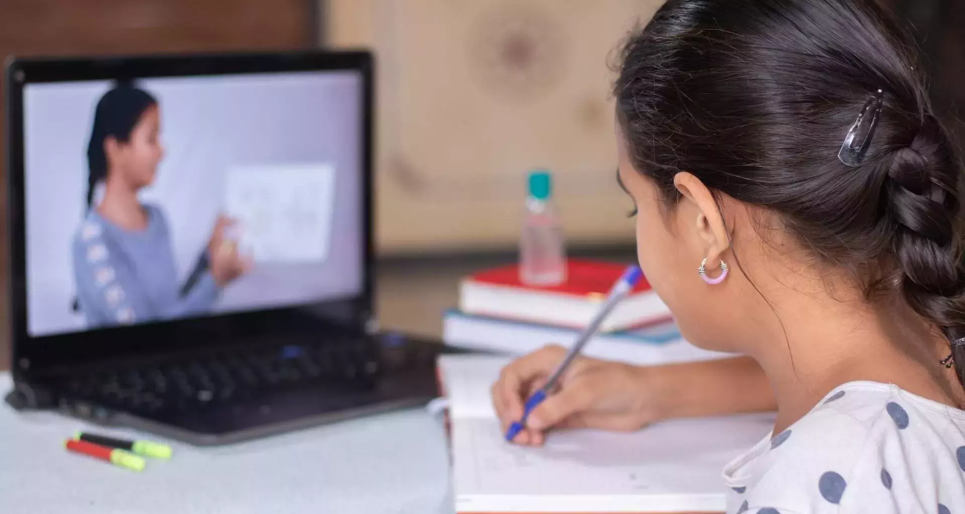
[(351, 298), (363, 78), (27, 84), (31, 337)]

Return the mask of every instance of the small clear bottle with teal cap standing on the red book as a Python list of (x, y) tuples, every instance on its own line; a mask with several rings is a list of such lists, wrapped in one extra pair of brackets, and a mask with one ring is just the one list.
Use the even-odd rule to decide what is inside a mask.
[(519, 279), (528, 285), (566, 282), (566, 251), (560, 219), (553, 208), (553, 179), (538, 170), (529, 177), (526, 217), (519, 239)]

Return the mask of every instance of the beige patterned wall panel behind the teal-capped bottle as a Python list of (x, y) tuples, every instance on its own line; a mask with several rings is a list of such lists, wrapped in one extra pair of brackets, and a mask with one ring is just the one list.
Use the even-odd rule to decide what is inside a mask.
[(545, 167), (571, 244), (632, 241), (609, 59), (662, 0), (328, 0), (332, 46), (378, 56), (386, 253), (511, 248)]

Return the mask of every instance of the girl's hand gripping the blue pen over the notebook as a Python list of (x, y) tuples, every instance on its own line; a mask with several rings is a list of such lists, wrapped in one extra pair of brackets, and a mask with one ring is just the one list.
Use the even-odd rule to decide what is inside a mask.
[[(545, 384), (563, 362), (566, 350), (547, 346), (503, 368), (492, 386), (492, 401), (505, 431), (523, 415), (523, 403)], [(550, 394), (530, 414), (526, 429), (513, 440), (520, 445), (542, 445), (550, 428), (637, 430), (657, 419), (656, 398), (649, 368), (577, 358)]]

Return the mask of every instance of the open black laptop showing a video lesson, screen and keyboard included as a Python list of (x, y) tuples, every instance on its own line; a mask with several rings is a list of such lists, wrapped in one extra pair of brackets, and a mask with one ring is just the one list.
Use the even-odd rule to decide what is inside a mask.
[(426, 402), (373, 307), (372, 56), (17, 59), (14, 392), (195, 445)]

